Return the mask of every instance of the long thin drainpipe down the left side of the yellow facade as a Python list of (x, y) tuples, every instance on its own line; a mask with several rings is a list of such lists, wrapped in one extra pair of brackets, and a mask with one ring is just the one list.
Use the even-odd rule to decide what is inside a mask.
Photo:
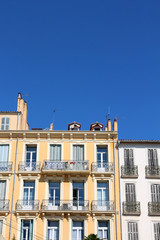
[[(19, 124), (19, 112), (18, 112), (18, 119), (17, 119), (17, 129), (18, 129), (18, 124)], [(11, 230), (12, 230), (12, 215), (13, 215), (14, 189), (15, 189), (15, 178), (16, 178), (16, 166), (17, 166), (17, 152), (18, 152), (18, 137), (17, 137), (17, 143), (16, 143), (16, 156), (15, 156), (15, 165), (14, 165), (11, 218), (10, 218), (10, 225), (9, 225), (9, 240), (11, 239)]]

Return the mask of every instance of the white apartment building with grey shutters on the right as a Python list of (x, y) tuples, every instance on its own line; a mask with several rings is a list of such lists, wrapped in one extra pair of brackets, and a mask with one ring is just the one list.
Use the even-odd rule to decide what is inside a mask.
[(122, 239), (160, 239), (160, 141), (120, 140)]

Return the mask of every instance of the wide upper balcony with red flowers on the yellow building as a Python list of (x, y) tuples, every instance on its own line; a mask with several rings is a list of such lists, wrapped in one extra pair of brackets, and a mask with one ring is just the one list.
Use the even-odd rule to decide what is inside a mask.
[(43, 172), (89, 174), (89, 161), (44, 161)]

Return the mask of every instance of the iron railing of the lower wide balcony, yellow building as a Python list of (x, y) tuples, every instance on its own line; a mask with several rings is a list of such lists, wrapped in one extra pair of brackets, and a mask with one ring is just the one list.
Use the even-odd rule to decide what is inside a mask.
[(43, 211), (89, 211), (88, 200), (43, 200)]

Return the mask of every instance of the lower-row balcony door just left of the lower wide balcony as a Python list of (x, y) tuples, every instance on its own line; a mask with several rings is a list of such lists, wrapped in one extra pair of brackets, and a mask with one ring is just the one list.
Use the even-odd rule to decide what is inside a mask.
[(23, 207), (32, 209), (34, 207), (35, 182), (24, 181), (23, 186)]

